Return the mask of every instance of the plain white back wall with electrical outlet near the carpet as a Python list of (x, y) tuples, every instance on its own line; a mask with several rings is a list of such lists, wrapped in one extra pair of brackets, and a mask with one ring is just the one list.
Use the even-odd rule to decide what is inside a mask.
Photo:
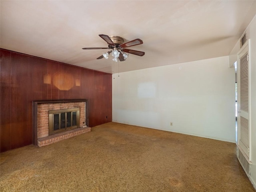
[(123, 72), (112, 81), (112, 120), (236, 142), (234, 88), (228, 56)]

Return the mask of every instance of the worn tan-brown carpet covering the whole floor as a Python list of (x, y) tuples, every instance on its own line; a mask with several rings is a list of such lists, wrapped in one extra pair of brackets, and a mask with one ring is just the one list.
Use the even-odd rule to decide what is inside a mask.
[(236, 144), (107, 123), (1, 154), (1, 191), (255, 192)]

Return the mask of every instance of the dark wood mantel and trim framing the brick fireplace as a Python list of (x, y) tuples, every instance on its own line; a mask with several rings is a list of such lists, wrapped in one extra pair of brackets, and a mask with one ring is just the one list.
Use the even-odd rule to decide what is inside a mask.
[(67, 103), (67, 102), (86, 102), (86, 120), (85, 124), (89, 126), (89, 117), (88, 117), (88, 100), (79, 99), (79, 100), (45, 100), (45, 101), (33, 101), (33, 145), (38, 145), (38, 104), (47, 104), (47, 103)]

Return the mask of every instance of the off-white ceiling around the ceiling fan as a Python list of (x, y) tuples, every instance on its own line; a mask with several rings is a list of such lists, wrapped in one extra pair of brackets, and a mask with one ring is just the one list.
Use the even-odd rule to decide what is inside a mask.
[[(116, 35), (130, 54), (119, 72), (227, 56), (256, 14), (256, 1), (0, 1), (1, 48), (113, 73), (98, 34)], [(115, 63), (115, 72), (117, 72)]]

